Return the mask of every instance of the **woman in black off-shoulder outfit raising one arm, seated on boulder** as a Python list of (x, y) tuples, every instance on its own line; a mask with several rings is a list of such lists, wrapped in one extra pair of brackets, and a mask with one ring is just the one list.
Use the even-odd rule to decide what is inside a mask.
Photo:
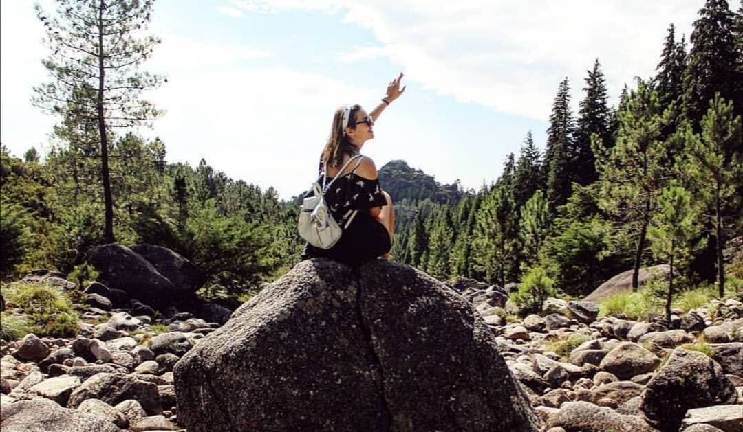
[[(392, 198), (384, 192), (377, 180), (377, 167), (370, 157), (361, 156), (339, 172), (351, 157), (360, 154), (366, 141), (374, 138), (374, 122), (405, 87), (400, 88), (403, 74), (389, 82), (387, 94), (382, 102), (367, 114), (360, 105), (338, 108), (333, 117), (328, 143), (320, 157), (320, 181), (323, 171), (327, 182), (335, 179), (325, 202), (333, 217), (343, 229), (343, 235), (331, 249), (319, 249), (307, 243), (302, 259), (331, 258), (352, 267), (381, 257), (389, 259), (392, 235), (395, 232), (395, 216), (392, 214)], [(356, 212), (354, 212), (356, 211)]]

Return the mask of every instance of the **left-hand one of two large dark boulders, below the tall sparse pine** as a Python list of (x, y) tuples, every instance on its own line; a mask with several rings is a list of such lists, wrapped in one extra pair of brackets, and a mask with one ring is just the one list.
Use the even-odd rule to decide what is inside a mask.
[(175, 285), (126, 246), (115, 243), (96, 246), (88, 252), (88, 263), (97, 269), (107, 287), (126, 291), (129, 297), (158, 307), (178, 301)]

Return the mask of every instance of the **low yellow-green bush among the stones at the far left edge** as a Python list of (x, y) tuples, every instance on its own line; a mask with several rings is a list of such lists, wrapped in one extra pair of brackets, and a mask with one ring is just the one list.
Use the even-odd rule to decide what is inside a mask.
[(7, 301), (20, 307), (36, 336), (71, 337), (79, 328), (67, 295), (43, 283), (10, 284)]

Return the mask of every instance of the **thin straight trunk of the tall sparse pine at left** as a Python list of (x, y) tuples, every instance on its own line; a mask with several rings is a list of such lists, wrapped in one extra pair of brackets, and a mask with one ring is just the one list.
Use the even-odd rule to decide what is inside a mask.
[(103, 240), (114, 243), (114, 200), (111, 198), (111, 180), (108, 176), (108, 135), (106, 134), (106, 119), (103, 111), (103, 84), (106, 69), (103, 67), (103, 9), (104, 0), (100, 0), (98, 10), (98, 133), (100, 134), (100, 177), (103, 182), (103, 208), (105, 212), (103, 226)]

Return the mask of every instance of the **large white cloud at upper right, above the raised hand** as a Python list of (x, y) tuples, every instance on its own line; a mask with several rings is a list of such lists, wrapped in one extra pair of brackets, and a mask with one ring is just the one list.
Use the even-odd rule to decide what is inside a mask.
[(615, 99), (635, 75), (655, 71), (668, 24), (691, 31), (699, 0), (674, 1), (248, 1), (244, 10), (340, 10), (381, 47), (343, 61), (388, 56), (410, 80), (462, 102), (546, 120), (557, 85), (571, 80), (574, 105), (598, 58)]

